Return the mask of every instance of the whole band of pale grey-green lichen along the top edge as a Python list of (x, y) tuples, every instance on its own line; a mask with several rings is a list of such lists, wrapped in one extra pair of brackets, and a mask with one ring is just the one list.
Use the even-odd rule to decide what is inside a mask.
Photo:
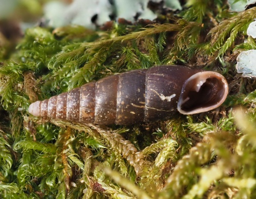
[[(0, 0), (1, 1), (1, 0)], [(162, 0), (151, 0), (160, 3)], [(111, 2), (111, 3), (110, 3)], [(71, 4), (52, 1), (45, 6), (45, 18), (52, 27), (77, 24), (95, 29), (110, 21), (111, 16), (135, 21), (136, 19), (154, 20), (157, 14), (148, 8), (150, 0), (74, 0)], [(163, 7), (182, 10), (179, 0), (165, 0)]]

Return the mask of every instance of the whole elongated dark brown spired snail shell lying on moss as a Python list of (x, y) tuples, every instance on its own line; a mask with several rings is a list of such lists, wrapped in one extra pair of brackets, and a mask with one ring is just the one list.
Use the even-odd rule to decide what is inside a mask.
[(166, 120), (219, 107), (228, 84), (218, 72), (163, 65), (131, 70), (85, 84), (29, 106), (42, 118), (98, 125)]

